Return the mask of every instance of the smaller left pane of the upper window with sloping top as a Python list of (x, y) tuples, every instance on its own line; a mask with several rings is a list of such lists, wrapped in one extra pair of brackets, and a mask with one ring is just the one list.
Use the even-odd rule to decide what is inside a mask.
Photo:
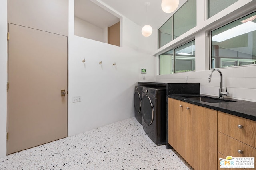
[(172, 41), (172, 17), (158, 29), (159, 48)]

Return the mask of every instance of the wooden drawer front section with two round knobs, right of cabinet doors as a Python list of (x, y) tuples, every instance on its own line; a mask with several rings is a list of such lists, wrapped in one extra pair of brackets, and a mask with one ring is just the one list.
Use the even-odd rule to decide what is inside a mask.
[(218, 111), (218, 158), (256, 157), (255, 146), (256, 121)]

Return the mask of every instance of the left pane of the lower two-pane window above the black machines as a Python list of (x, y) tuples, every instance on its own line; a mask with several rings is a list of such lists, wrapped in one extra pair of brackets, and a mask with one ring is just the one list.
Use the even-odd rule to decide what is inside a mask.
[(173, 74), (173, 50), (160, 55), (160, 75)]

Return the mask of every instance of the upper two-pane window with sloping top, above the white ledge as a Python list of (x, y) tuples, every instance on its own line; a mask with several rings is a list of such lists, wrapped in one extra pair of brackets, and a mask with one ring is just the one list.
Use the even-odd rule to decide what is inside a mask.
[(158, 48), (196, 26), (196, 0), (188, 0), (158, 29)]

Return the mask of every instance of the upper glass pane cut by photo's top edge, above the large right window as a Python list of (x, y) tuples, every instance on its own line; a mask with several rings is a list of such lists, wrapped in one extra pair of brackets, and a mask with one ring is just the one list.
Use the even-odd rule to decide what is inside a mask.
[(208, 0), (208, 18), (234, 4), (238, 0)]

